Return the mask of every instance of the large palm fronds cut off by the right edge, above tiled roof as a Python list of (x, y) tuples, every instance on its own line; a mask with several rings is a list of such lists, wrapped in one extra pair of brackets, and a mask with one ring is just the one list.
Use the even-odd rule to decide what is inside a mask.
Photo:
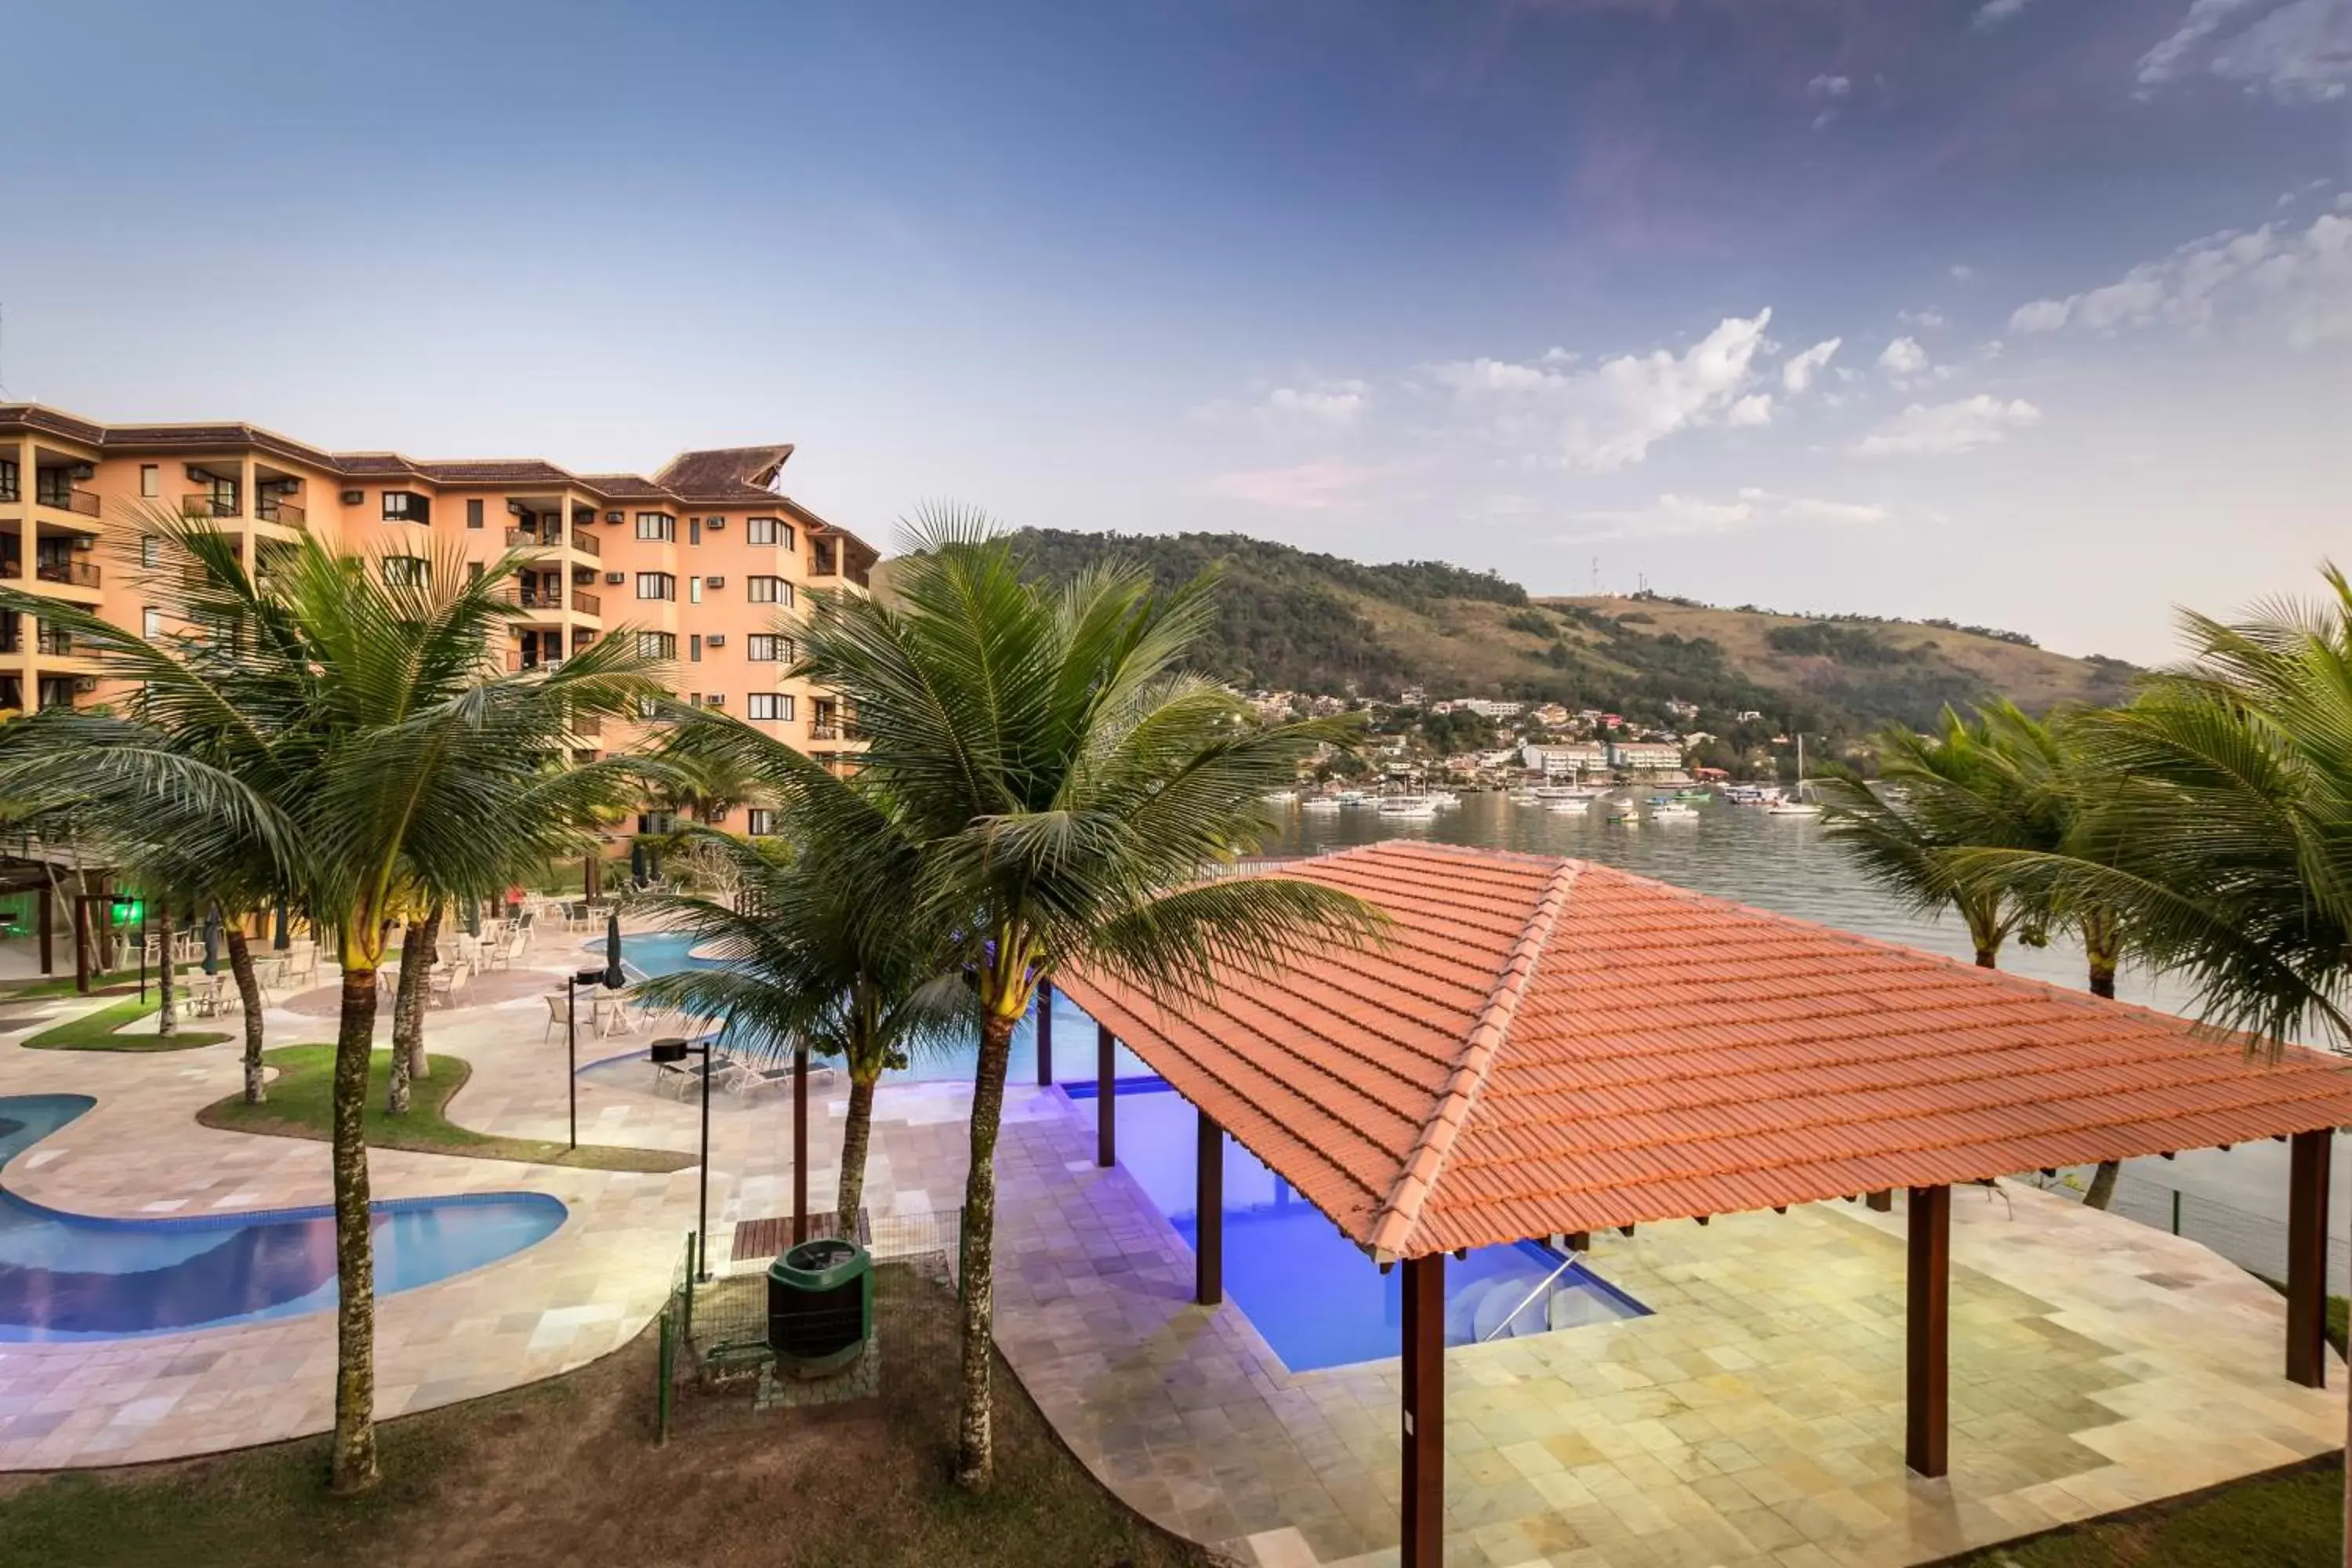
[[(2352, 1037), (2352, 581), (2239, 623), (2183, 611), (2190, 663), (2082, 722), (2110, 792), (2063, 851), (1987, 849), (1969, 879), (2110, 905), (2201, 1020), (2260, 1048)], [(2352, 1566), (2352, 1476), (2345, 1490)]]

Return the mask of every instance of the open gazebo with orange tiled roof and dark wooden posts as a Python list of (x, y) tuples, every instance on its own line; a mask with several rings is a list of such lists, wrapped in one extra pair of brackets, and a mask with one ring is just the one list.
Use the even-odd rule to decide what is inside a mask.
[(2286, 1378), (2324, 1382), (2352, 1065), (1559, 856), (1392, 842), (1256, 875), (1364, 898), (1388, 943), (1183, 1009), (1063, 976), (1098, 1025), (1098, 1161), (1124, 1041), (1197, 1112), (1200, 1302), (1223, 1295), (1221, 1131), (1404, 1269), (1406, 1568), (1442, 1561), (1444, 1260), (1477, 1246), (1903, 1187), (1905, 1458), (1943, 1476), (1952, 1185), (2284, 1138)]

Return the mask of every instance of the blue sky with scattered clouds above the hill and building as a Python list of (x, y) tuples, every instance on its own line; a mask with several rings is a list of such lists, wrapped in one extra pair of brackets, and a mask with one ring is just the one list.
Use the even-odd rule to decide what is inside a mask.
[(0, 388), (2161, 661), (2352, 564), (2352, 0), (21, 7)]

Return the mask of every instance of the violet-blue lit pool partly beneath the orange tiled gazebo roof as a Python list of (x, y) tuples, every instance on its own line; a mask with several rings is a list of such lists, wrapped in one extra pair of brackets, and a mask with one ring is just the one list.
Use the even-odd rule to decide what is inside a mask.
[[(1058, 1027), (1058, 1025), (1056, 1025)], [(1091, 1032), (1089, 1032), (1091, 1044)], [(1063, 1084), (1091, 1100), (1094, 1084)], [(1089, 1107), (1091, 1110), (1091, 1107)], [(1195, 1119), (1183, 1095), (1120, 1079), (1120, 1164), (1185, 1246), (1195, 1211)], [(1294, 1373), (1395, 1356), (1404, 1328), (1404, 1269), (1381, 1269), (1289, 1182), (1230, 1135), (1225, 1150), (1225, 1295), (1249, 1314)], [(1446, 1345), (1646, 1316), (1649, 1307), (1538, 1241), (1446, 1258)]]

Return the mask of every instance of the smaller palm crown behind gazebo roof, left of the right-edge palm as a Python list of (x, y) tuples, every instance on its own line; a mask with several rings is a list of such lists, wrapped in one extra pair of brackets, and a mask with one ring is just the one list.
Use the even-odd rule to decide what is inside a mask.
[(1945, 708), (1936, 736), (1900, 726), (1882, 736), (1879, 776), (1893, 790), (1875, 790), (1846, 771), (1816, 783), (1828, 806), (1828, 837), (1915, 912), (1957, 910), (1978, 969), (1999, 969), (2002, 945), (2013, 933), (2025, 929), (2030, 940), (2039, 940), (2049, 924), (2044, 903), (1952, 872), (1957, 849), (2051, 849), (2063, 835), (2049, 799), (2020, 769), (2020, 733), (2039, 733), (2039, 726), (2006, 703), (1983, 708), (1973, 719)]

